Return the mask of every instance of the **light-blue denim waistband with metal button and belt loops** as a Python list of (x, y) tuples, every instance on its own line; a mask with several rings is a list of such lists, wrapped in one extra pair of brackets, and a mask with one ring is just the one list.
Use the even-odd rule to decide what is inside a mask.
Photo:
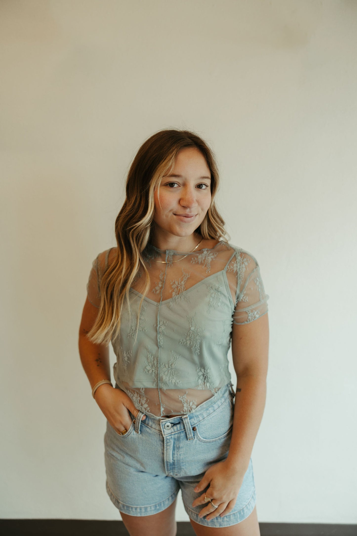
[[(153, 417), (146, 415), (145, 421), (142, 421), (144, 413), (139, 410), (135, 420), (135, 431), (140, 434), (140, 425), (143, 424), (150, 428), (160, 431), (163, 435), (170, 435), (185, 429), (188, 439), (193, 439), (191, 428), (198, 424), (202, 419), (206, 419), (211, 413), (217, 410), (225, 402), (227, 397), (234, 397), (232, 383), (227, 383), (217, 391), (214, 396), (202, 402), (195, 410), (184, 415), (175, 417)], [(168, 424), (169, 423), (169, 424)]]

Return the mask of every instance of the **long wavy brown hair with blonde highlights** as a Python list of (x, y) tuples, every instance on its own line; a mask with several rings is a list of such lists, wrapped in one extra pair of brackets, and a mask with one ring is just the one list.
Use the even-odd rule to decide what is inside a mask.
[(141, 304), (150, 288), (149, 273), (142, 251), (151, 239), (154, 192), (161, 184), (162, 177), (172, 172), (178, 152), (186, 147), (198, 148), (211, 172), (211, 204), (200, 226), (195, 230), (200, 232), (204, 239), (226, 242), (230, 240), (230, 235), (224, 228), (225, 222), (215, 205), (219, 175), (215, 154), (211, 148), (202, 138), (188, 130), (165, 129), (150, 136), (136, 153), (127, 175), (126, 199), (115, 220), (117, 255), (101, 278), (100, 307), (95, 323), (87, 333), (88, 340), (94, 344), (109, 344), (110, 340), (119, 338), (124, 300), (127, 299), (131, 315), (129, 290), (136, 274), (142, 268), (146, 284), (139, 304), (136, 336), (138, 334)]

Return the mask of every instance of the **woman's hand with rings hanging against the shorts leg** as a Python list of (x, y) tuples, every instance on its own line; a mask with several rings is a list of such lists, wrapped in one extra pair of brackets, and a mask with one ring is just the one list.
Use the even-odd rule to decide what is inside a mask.
[[(243, 479), (244, 473), (234, 469), (227, 463), (227, 460), (218, 461), (215, 465), (211, 465), (194, 489), (195, 492), (201, 492), (202, 489), (210, 485), (206, 492), (192, 503), (193, 507), (206, 504), (206, 507), (200, 511), (199, 517), (208, 514), (206, 519), (210, 520), (219, 515), (223, 517), (233, 510)], [(205, 494), (212, 499), (218, 508), (213, 510), (211, 503), (204, 500)]]

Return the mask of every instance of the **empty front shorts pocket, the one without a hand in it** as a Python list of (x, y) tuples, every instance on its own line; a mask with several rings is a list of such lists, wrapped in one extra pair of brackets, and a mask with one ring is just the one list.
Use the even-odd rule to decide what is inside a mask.
[(213, 413), (195, 425), (195, 436), (203, 443), (223, 440), (233, 428), (233, 406), (228, 396)]

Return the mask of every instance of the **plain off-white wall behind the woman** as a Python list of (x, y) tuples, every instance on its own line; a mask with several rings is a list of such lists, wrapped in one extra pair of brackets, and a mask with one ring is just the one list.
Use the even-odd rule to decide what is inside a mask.
[(1, 2), (1, 517), (120, 519), (78, 329), (132, 158), (173, 126), (214, 148), (270, 295), (259, 520), (357, 522), (356, 47), (356, 2)]

